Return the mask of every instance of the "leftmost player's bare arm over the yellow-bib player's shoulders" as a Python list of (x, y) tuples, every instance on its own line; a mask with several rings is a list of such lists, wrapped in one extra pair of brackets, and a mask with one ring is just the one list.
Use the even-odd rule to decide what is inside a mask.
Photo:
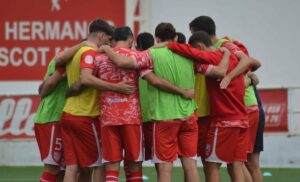
[(96, 45), (89, 41), (83, 41), (79, 44), (76, 44), (75, 46), (65, 50), (61, 55), (57, 56), (56, 66), (62, 66), (65, 63), (67, 63), (68, 61), (70, 61), (72, 59), (72, 57), (74, 56), (74, 54), (83, 46), (89, 46), (89, 47), (96, 48)]

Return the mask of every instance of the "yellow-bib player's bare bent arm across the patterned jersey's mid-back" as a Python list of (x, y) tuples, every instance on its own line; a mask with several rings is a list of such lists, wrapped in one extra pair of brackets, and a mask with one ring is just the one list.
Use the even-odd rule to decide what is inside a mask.
[(93, 70), (89, 68), (83, 68), (80, 71), (80, 83), (83, 86), (93, 87), (95, 89), (103, 91), (114, 91), (123, 94), (131, 94), (136, 91), (135, 86), (128, 85), (128, 81), (119, 83), (110, 83), (95, 77)]

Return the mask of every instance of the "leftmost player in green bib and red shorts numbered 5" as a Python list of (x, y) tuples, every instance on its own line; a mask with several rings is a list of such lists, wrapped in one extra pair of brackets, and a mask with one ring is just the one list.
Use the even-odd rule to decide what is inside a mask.
[(63, 68), (55, 68), (54, 57), (48, 65), (44, 81), (39, 87), (42, 97), (35, 115), (34, 131), (40, 149), (44, 171), (40, 181), (56, 182), (62, 166), (60, 117), (65, 104), (67, 80)]

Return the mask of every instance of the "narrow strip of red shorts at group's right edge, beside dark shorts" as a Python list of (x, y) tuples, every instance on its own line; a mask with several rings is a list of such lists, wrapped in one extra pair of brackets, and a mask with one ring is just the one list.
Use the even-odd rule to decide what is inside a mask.
[(248, 129), (248, 153), (253, 152), (253, 148), (256, 140), (257, 127), (259, 122), (259, 110), (257, 106), (250, 106), (247, 108), (248, 120), (249, 120), (249, 129)]

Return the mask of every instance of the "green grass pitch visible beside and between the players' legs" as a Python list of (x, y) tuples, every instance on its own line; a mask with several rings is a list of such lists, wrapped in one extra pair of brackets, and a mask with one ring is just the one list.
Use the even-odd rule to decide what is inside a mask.
[[(42, 167), (0, 167), (0, 182), (33, 182), (38, 181), (42, 172)], [(202, 181), (203, 172), (202, 168), (199, 168)], [(272, 176), (265, 176), (265, 182), (300, 182), (300, 169), (289, 168), (263, 168), (262, 172), (270, 172)], [(156, 181), (156, 173), (153, 167), (145, 167), (143, 169), (144, 176), (149, 179), (145, 182)], [(229, 176), (226, 173), (226, 169), (221, 169), (222, 182), (229, 182)], [(120, 181), (124, 180), (123, 172), (121, 172)], [(182, 182), (183, 174), (180, 167), (175, 167), (173, 171), (173, 182)]]

